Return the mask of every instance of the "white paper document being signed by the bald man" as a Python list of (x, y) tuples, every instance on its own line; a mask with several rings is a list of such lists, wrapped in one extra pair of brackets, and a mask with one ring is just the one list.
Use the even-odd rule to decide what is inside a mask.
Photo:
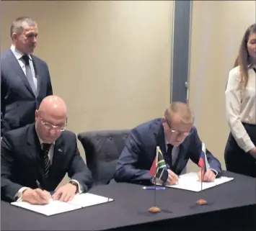
[(105, 196), (98, 196), (95, 194), (85, 193), (76, 194), (76, 196), (74, 196), (74, 199), (72, 199), (69, 202), (53, 201), (53, 199), (50, 199), (49, 204), (45, 205), (29, 204), (25, 201), (12, 202), (11, 204), (17, 207), (22, 207), (24, 209), (29, 209), (34, 212), (38, 212), (40, 214), (45, 214), (46, 216), (50, 216), (53, 214), (69, 212), (75, 209), (81, 209), (83, 207), (89, 207), (96, 204), (103, 204), (110, 201), (113, 201), (113, 199), (107, 198)]

